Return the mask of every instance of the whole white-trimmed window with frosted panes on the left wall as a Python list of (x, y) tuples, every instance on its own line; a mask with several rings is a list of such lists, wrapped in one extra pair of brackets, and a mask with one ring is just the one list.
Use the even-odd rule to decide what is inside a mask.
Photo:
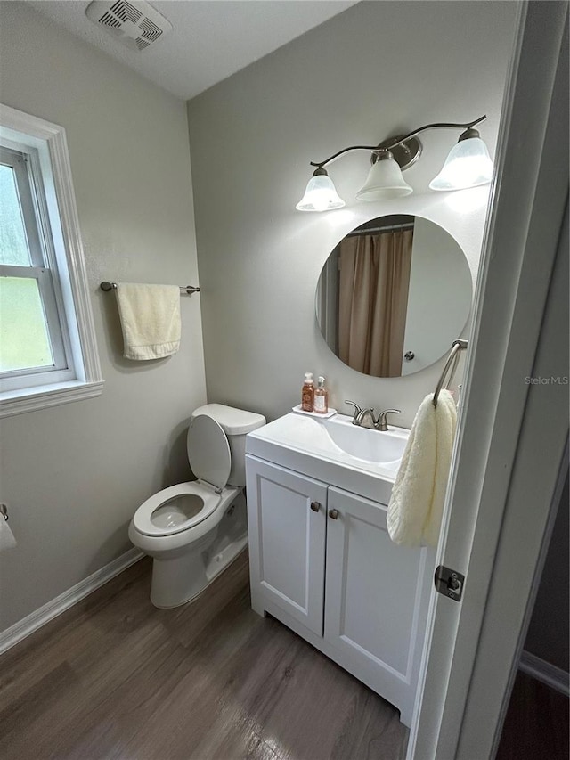
[(0, 106), (0, 415), (101, 392), (64, 130)]

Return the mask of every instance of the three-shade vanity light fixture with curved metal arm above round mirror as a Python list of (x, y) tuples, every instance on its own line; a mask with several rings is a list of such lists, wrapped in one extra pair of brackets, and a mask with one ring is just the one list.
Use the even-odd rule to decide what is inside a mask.
[(334, 183), (330, 179), (327, 164), (350, 151), (371, 151), (371, 170), (366, 182), (356, 193), (357, 200), (388, 200), (410, 195), (412, 191), (402, 176), (402, 170), (419, 159), (421, 143), (416, 135), (427, 129), (462, 128), (459, 141), (452, 147), (444, 167), (429, 183), (432, 190), (464, 190), (479, 184), (491, 182), (493, 176), (493, 161), (489, 158), (487, 146), (474, 127), (487, 118), (481, 116), (467, 124), (453, 122), (438, 122), (427, 124), (425, 127), (414, 129), (408, 135), (388, 137), (379, 145), (352, 145), (343, 148), (324, 161), (311, 161), (316, 167), (314, 174), (306, 186), (305, 195), (297, 203), (299, 211), (330, 211), (342, 208), (345, 201), (338, 195)]

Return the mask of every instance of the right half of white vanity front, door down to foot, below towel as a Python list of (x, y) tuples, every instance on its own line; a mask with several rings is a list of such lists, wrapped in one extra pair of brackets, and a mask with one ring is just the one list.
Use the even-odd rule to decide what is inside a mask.
[(427, 549), (392, 543), (386, 514), (379, 503), (330, 487), (324, 637), (410, 725), (431, 565)]

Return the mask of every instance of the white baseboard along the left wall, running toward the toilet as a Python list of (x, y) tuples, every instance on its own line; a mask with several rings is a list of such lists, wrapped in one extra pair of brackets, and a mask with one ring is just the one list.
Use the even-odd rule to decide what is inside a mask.
[(73, 607), (77, 601), (85, 599), (85, 596), (106, 584), (111, 578), (118, 576), (126, 568), (134, 565), (134, 562), (138, 562), (143, 556), (144, 554), (138, 549), (129, 549), (125, 554), (121, 554), (117, 560), (113, 560), (100, 570), (96, 570), (93, 575), (86, 577), (85, 580), (72, 586), (68, 591), (56, 596), (52, 601), (48, 601), (43, 607), (24, 617), (18, 623), (11, 625), (10, 628), (6, 628), (0, 633), (0, 654), (21, 642), (30, 633), (37, 631), (42, 625), (49, 623), (54, 617), (61, 615), (66, 609)]

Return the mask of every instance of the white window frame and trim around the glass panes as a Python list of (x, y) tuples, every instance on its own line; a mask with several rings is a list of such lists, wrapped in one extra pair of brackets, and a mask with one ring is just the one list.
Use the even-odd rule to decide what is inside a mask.
[[(37, 249), (28, 244), (32, 266), (3, 265), (2, 271), (37, 279), (55, 364), (2, 373), (4, 417), (99, 396), (103, 379), (65, 130), (0, 103), (0, 146), (28, 159), (31, 198), (22, 214), (28, 240), (37, 235)], [(20, 190), (22, 176), (16, 181)]]

